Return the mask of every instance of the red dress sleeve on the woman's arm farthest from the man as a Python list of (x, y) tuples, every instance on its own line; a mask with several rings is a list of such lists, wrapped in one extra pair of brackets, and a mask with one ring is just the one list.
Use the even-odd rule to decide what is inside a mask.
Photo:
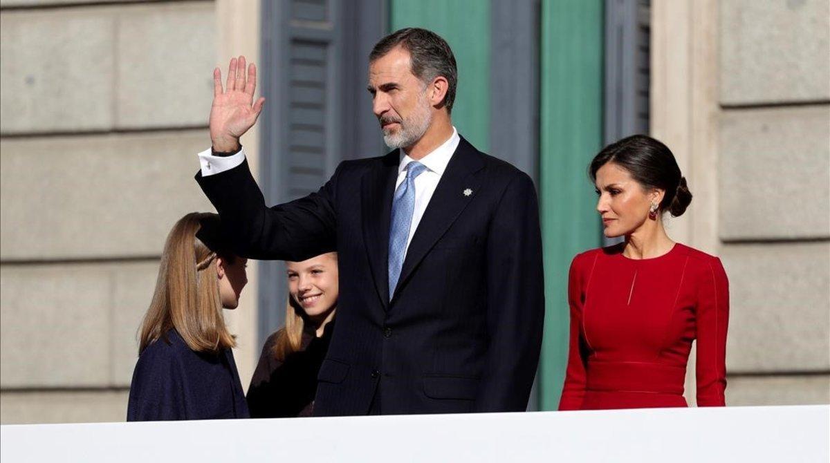
[(726, 329), (729, 280), (720, 259), (701, 277), (697, 300), (697, 405), (723, 407), (726, 389)]

